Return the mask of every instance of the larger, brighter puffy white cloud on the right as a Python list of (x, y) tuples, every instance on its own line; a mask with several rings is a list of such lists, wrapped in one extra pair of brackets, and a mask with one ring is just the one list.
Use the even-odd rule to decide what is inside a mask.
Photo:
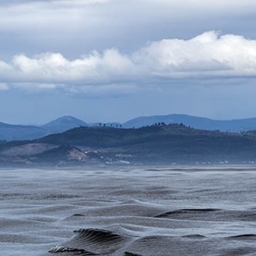
[[(189, 40), (165, 39), (137, 51), (134, 59), (167, 77), (256, 75), (256, 41), (205, 32)], [(146, 60), (146, 61), (145, 61)]]

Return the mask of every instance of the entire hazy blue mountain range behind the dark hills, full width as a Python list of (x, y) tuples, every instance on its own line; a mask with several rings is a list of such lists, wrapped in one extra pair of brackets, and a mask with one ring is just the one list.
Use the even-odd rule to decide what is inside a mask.
[(45, 137), (50, 134), (60, 133), (79, 126), (109, 126), (123, 128), (141, 128), (143, 126), (158, 125), (164, 123), (183, 124), (195, 129), (209, 131), (230, 131), (245, 132), (256, 130), (256, 118), (251, 119), (231, 119), (231, 120), (214, 120), (202, 117), (195, 117), (186, 114), (169, 114), (155, 115), (148, 117), (138, 117), (128, 120), (123, 124), (119, 123), (86, 123), (81, 119), (71, 116), (64, 116), (55, 119), (45, 125), (9, 125), (0, 123), (0, 140), (32, 140), (39, 137)]

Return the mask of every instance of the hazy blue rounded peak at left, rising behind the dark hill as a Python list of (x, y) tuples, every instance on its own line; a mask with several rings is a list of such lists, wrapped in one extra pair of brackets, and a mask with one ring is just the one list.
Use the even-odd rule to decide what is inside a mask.
[(48, 131), (49, 133), (59, 133), (79, 126), (87, 126), (87, 124), (84, 121), (76, 119), (72, 116), (63, 116), (45, 125), (42, 125), (41, 128)]

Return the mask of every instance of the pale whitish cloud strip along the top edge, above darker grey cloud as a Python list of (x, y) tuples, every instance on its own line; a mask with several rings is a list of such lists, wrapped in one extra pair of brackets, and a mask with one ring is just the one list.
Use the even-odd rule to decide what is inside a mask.
[[(3, 2), (3, 3), (2, 3)], [(218, 17), (224, 23), (230, 17), (253, 16), (252, 0), (10, 0), (0, 3), (1, 32), (26, 33), (76, 32), (96, 33), (104, 27), (114, 34), (116, 28), (156, 26), (170, 21), (206, 20)], [(136, 17), (133, 19), (132, 17)], [(189, 26), (189, 24), (187, 24)]]

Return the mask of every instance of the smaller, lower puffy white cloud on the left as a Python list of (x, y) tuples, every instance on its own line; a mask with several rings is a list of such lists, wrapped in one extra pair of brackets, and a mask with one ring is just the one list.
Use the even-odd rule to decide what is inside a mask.
[(81, 83), (85, 79), (85, 83), (89, 84), (123, 79), (133, 68), (131, 60), (119, 54), (117, 49), (106, 49), (102, 55), (93, 51), (76, 60), (67, 60), (60, 53), (46, 53), (32, 58), (16, 55), (11, 64), (4, 64), (12, 69), (10, 77), (15, 74), (24, 81)]

